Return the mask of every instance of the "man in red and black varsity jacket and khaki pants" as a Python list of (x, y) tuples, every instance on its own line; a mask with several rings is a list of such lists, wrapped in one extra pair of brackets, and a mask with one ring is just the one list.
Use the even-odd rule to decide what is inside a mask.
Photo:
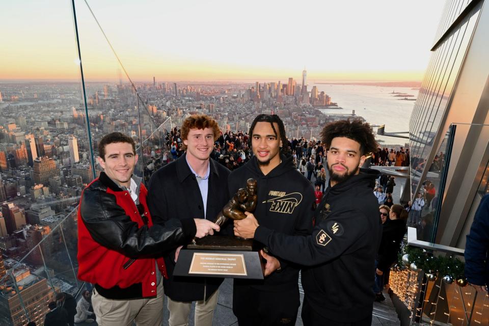
[(156, 223), (146, 203), (147, 189), (133, 176), (138, 161), (134, 141), (113, 132), (99, 143), (104, 172), (90, 183), (78, 207), (78, 279), (95, 284), (97, 322), (120, 326), (160, 325), (163, 252), (219, 226), (201, 219)]

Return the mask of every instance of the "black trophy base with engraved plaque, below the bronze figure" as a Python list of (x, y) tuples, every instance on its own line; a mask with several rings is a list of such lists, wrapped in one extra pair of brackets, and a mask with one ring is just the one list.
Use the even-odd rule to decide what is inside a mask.
[(263, 271), (253, 239), (207, 236), (180, 251), (173, 275), (263, 280)]

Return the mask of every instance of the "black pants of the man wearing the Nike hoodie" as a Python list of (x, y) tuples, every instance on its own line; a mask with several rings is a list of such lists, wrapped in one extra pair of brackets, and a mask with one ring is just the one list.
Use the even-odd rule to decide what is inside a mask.
[(280, 292), (260, 291), (234, 282), (233, 313), (239, 326), (295, 325), (301, 301), (298, 286)]

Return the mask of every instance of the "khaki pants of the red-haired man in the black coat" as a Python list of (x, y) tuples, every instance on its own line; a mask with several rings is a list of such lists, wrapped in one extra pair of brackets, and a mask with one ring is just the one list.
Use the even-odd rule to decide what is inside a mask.
[[(212, 326), (214, 309), (218, 304), (218, 292), (219, 290), (215, 290), (207, 301), (195, 302), (195, 326)], [(168, 324), (170, 326), (187, 326), (192, 302), (178, 302), (171, 300), (168, 296), (167, 298), (168, 311), (170, 312)]]

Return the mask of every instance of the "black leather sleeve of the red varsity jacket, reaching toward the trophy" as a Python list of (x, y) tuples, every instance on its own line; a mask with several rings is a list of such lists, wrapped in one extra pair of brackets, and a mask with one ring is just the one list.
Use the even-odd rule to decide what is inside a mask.
[(87, 188), (80, 214), (95, 241), (131, 258), (159, 254), (188, 241), (177, 219), (139, 228), (116, 204), (115, 196), (103, 191)]

